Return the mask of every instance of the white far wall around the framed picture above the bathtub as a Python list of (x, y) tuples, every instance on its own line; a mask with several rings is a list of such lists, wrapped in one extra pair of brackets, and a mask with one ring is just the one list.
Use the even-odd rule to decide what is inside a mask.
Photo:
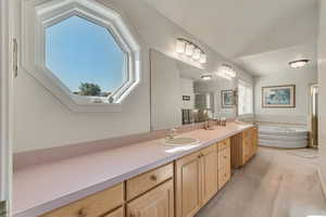
[[(281, 74), (254, 77), (254, 111), (261, 122), (289, 122), (306, 124), (309, 114), (309, 87), (317, 82), (316, 68), (289, 69)], [(262, 87), (296, 85), (294, 108), (263, 108)]]

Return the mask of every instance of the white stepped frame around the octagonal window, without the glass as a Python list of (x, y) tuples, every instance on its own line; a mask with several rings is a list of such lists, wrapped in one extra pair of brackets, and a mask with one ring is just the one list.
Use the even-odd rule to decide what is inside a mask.
[[(46, 28), (79, 16), (109, 30), (126, 56), (125, 82), (111, 95), (74, 94), (46, 67)], [(92, 0), (22, 0), (22, 67), (74, 112), (121, 112), (123, 100), (140, 82), (140, 46), (121, 13)], [(95, 103), (95, 102), (102, 103)]]

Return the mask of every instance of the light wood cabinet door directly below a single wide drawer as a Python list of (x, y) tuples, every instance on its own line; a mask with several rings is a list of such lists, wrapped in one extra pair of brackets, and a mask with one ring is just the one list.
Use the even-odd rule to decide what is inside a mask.
[(127, 204), (127, 217), (174, 217), (173, 180)]

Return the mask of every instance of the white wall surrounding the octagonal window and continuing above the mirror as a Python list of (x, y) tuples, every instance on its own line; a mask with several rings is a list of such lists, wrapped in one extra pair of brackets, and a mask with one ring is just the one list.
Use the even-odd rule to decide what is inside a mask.
[[(209, 62), (205, 65), (206, 72), (216, 71), (222, 62), (228, 63), (218, 53), (140, 0), (98, 1), (123, 11), (126, 21), (141, 39), (143, 43), (141, 84), (125, 100), (122, 113), (73, 113), (35, 78), (21, 69), (15, 81), (14, 152), (149, 131), (149, 48), (183, 60), (175, 53), (175, 40), (185, 37), (206, 51)], [(18, 38), (18, 35), (16, 37)], [(237, 69), (240, 76), (251, 79), (246, 72)]]

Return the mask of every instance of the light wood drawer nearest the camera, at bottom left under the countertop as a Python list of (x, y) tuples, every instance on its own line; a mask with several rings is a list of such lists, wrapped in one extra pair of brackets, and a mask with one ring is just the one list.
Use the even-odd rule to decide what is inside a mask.
[(123, 205), (124, 188), (120, 183), (97, 194), (53, 210), (42, 217), (99, 217)]

